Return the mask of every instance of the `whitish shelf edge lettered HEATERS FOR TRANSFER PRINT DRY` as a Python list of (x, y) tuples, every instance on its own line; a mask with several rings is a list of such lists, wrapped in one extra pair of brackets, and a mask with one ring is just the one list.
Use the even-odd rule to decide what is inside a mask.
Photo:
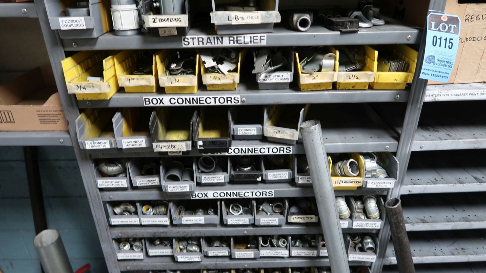
[(424, 102), (485, 100), (486, 83), (429, 85)]

